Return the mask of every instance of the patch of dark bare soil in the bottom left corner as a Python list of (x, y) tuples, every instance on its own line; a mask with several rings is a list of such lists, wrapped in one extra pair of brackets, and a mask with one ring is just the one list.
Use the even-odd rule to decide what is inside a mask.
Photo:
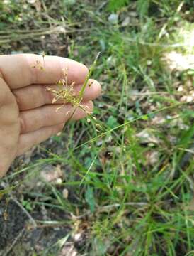
[[(33, 217), (35, 215), (39, 215), (40, 218), (41, 213), (33, 213)], [(69, 231), (62, 226), (34, 228), (28, 216), (16, 202), (6, 203), (5, 200), (0, 202), (0, 230), (0, 255), (2, 256), (33, 255), (35, 251), (41, 251), (43, 254), (45, 251), (46, 255), (54, 253), (55, 247), (51, 245), (64, 238)]]

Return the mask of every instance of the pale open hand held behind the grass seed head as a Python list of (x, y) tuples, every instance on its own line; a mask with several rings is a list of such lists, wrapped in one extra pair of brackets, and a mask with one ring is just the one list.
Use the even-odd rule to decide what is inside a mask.
[[(40, 61), (44, 70), (33, 68)], [(57, 88), (63, 69), (67, 69), (70, 85), (75, 82), (75, 93), (79, 93), (89, 72), (85, 65), (67, 58), (20, 54), (0, 56), (0, 178), (6, 174), (16, 156), (44, 142), (62, 131), (74, 107), (67, 104), (56, 112), (63, 102), (52, 104), (52, 92), (47, 87)], [(89, 112), (93, 102), (101, 93), (101, 85), (89, 81), (82, 105)], [(72, 120), (86, 117), (78, 108)]]

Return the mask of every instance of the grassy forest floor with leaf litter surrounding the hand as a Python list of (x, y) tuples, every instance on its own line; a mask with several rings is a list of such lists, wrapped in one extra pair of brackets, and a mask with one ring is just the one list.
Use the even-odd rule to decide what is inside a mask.
[(0, 3), (0, 54), (90, 66), (93, 116), (0, 181), (0, 255), (194, 255), (192, 0)]

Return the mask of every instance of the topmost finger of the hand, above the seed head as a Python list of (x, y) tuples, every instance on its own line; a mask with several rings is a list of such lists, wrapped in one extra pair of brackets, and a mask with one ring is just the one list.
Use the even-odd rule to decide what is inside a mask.
[(67, 70), (67, 82), (81, 84), (88, 74), (88, 68), (68, 58), (35, 54), (0, 56), (0, 75), (11, 89), (32, 84), (57, 83)]

